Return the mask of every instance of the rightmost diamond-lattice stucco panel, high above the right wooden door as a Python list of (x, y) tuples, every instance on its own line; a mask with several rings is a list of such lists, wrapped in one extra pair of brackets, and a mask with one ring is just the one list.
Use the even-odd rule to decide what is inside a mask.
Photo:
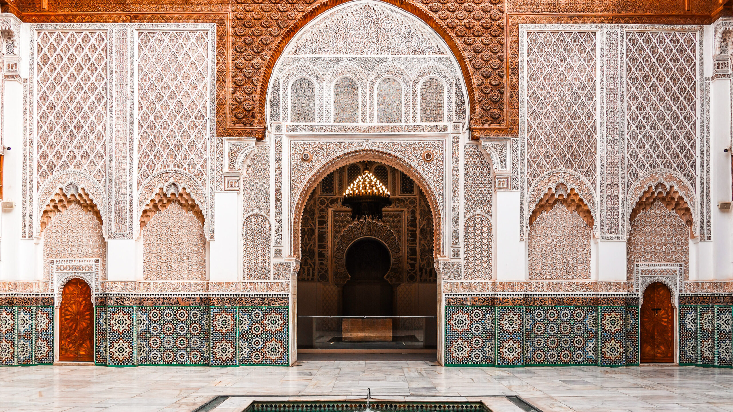
[(626, 34), (627, 185), (660, 167), (695, 186), (697, 35)]

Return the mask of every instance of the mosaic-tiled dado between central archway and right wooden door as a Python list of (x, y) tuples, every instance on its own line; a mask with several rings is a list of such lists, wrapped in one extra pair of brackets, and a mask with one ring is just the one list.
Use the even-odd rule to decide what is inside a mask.
[(447, 296), (446, 366), (638, 364), (638, 295)]

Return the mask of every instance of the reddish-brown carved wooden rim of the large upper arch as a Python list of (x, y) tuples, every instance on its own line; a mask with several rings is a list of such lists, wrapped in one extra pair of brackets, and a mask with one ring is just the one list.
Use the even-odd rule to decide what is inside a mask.
[[(303, 15), (301, 15), (298, 19), (296, 19), (281, 34), (281, 36), (279, 37), (279, 40), (271, 49), (267, 62), (265, 62), (264, 67), (262, 67), (261, 80), (259, 81), (259, 85), (257, 89), (257, 95), (258, 95), (257, 106), (256, 106), (257, 107), (257, 115), (256, 115), (257, 122), (259, 123), (265, 122), (265, 112), (266, 112), (265, 105), (267, 101), (268, 86), (270, 84), (270, 76), (272, 76), (272, 72), (276, 65), (276, 62), (278, 61), (280, 56), (285, 51), (285, 48), (287, 48), (287, 45), (288, 43), (290, 43), (290, 40), (292, 40), (293, 37), (295, 37), (295, 34), (298, 34), (298, 32), (301, 29), (303, 29), (303, 27), (305, 27), (308, 23), (313, 21), (315, 18), (317, 18), (318, 16), (322, 15), (323, 13), (327, 12), (328, 10), (336, 6), (347, 3), (347, 1), (348, 0), (325, 0), (322, 3), (317, 4), (316, 6), (312, 7), (312, 9), (308, 10), (307, 12), (303, 13)], [(438, 18), (436, 18), (435, 15), (432, 15), (432, 12), (424, 10), (417, 4), (412, 4), (408, 1), (402, 1), (402, 0), (385, 0), (385, 1), (388, 4), (399, 7), (400, 9), (405, 10), (406, 12), (410, 12), (411, 14), (415, 15), (421, 21), (426, 23), (427, 26), (430, 26), (431, 29), (435, 30), (435, 32), (438, 33), (438, 35), (443, 39), (443, 41), (446, 42), (446, 45), (448, 45), (453, 56), (455, 57), (456, 61), (458, 62), (458, 65), (460, 66), (460, 70), (463, 75), (463, 78), (465, 79), (466, 89), (468, 89), (469, 110), (472, 113), (474, 113), (471, 115), (471, 119), (474, 119), (474, 118), (478, 119), (481, 109), (479, 108), (479, 100), (477, 100), (476, 94), (479, 91), (478, 89), (476, 89), (474, 85), (474, 81), (473, 81), (474, 77), (472, 76), (471, 68), (468, 67), (468, 59), (466, 59), (465, 55), (463, 54), (463, 50), (461, 46), (458, 45), (457, 41), (454, 39), (454, 35), (446, 29), (446, 26), (443, 25), (444, 23), (438, 20)], [(478, 10), (478, 7), (476, 7), (476, 9)], [(446, 11), (443, 10), (443, 12), (446, 12)], [(501, 17), (503, 18), (503, 16)], [(465, 30), (465, 27), (463, 26), (460, 26), (460, 27), (461, 27), (460, 30), (462, 31)], [(461, 37), (459, 37), (459, 39), (461, 39)], [(491, 92), (493, 92), (493, 87), (492, 87)], [(485, 99), (485, 100), (488, 101), (488, 99)], [(500, 116), (503, 116), (503, 114), (504, 113), (502, 112)]]

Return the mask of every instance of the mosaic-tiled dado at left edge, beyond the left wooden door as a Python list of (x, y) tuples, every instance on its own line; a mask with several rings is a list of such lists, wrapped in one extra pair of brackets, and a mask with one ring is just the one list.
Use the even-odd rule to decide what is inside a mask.
[(53, 295), (0, 295), (0, 365), (53, 363)]

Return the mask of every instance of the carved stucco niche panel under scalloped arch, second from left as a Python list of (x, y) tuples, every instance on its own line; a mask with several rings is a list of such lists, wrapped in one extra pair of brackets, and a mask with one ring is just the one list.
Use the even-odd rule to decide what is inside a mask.
[(205, 280), (204, 228), (174, 201), (142, 230), (145, 280)]

